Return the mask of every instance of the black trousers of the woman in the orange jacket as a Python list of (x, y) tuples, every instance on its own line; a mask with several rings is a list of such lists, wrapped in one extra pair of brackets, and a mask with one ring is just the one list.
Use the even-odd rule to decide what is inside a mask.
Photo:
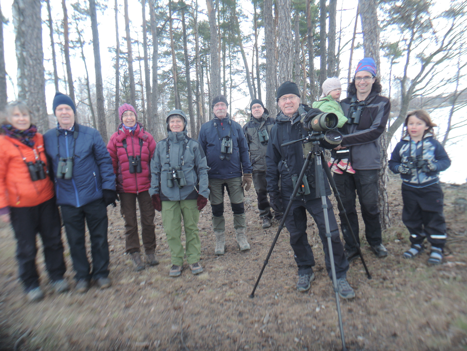
[(16, 238), (16, 259), (24, 290), (39, 286), (35, 266), (36, 235), (39, 233), (44, 248), (45, 267), (51, 281), (63, 279), (66, 267), (63, 258), (60, 214), (55, 197), (33, 207), (10, 207), (11, 224)]

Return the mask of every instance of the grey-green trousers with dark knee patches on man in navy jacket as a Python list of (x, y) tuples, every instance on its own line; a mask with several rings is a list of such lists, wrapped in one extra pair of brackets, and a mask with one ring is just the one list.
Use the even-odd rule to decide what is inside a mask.
[(245, 228), (246, 216), (243, 205), (243, 188), (241, 187), (241, 177), (230, 179), (209, 178), (209, 201), (212, 208), (212, 227), (214, 231), (221, 232), (226, 229), (224, 218), (224, 187), (227, 188), (227, 194), (230, 198), (230, 204), (233, 211), (233, 227)]

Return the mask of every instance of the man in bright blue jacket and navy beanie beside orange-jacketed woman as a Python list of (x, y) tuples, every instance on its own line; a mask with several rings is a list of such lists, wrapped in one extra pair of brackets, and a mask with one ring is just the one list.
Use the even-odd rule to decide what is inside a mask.
[[(99, 288), (108, 288), (106, 207), (117, 197), (112, 159), (96, 129), (75, 123), (76, 108), (70, 97), (57, 92), (53, 109), (58, 125), (44, 134), (44, 147), (55, 176), (76, 290), (85, 293), (91, 279)], [(86, 257), (85, 220), (91, 238), (92, 272)]]

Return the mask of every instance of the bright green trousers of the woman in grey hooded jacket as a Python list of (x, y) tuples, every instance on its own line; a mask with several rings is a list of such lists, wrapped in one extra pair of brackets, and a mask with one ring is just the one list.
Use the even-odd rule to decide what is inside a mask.
[[(186, 250), (184, 250), (180, 240), (182, 218), (185, 228)], [(185, 251), (188, 264), (191, 265), (199, 261), (201, 240), (199, 240), (198, 235), (198, 219), (199, 211), (196, 200), (162, 202), (162, 224), (170, 248), (172, 265), (183, 266)]]

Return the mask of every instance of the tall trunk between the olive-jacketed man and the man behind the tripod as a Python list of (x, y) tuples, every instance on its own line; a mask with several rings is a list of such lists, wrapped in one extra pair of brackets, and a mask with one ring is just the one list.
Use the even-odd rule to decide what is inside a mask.
[(264, 0), (264, 41), (266, 44), (266, 101), (271, 116), (276, 117), (277, 61), (272, 15), (272, 0)]

